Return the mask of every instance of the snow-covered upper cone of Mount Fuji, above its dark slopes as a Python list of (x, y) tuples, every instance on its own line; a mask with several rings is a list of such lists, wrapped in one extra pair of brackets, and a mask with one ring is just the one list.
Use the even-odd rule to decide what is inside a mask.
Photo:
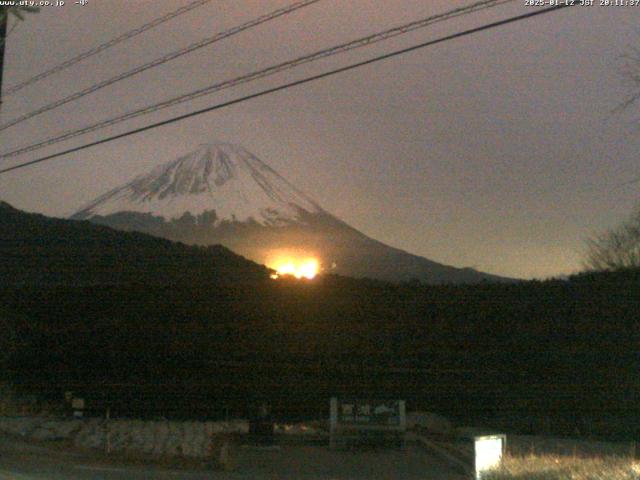
[(203, 144), (98, 197), (74, 218), (123, 212), (174, 220), (215, 211), (216, 223), (279, 225), (323, 210), (271, 167), (230, 143)]

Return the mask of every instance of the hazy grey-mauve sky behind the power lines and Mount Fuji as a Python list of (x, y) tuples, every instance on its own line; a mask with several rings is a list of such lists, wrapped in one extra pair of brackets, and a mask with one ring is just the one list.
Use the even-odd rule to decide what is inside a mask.
[[(74, 3), (14, 29), (5, 87), (188, 2)], [(213, 0), (3, 99), (1, 121), (288, 3)], [(0, 151), (470, 3), (322, 0), (0, 132)], [(533, 8), (519, 0), (453, 19), (2, 166)], [(575, 272), (584, 239), (640, 200), (640, 184), (618, 186), (640, 175), (634, 112), (611, 114), (630, 89), (618, 70), (639, 20), (640, 6), (535, 17), (0, 175), (0, 199), (66, 216), (200, 143), (229, 141), (394, 247), (507, 276)]]

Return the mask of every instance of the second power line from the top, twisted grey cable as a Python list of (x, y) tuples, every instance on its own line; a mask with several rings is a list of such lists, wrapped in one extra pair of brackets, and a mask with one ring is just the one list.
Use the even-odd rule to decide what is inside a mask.
[(271, 21), (275, 18), (281, 17), (283, 15), (287, 15), (289, 13), (292, 13), (300, 8), (304, 8), (307, 7), (313, 3), (319, 2), (320, 0), (302, 0), (296, 3), (293, 3), (287, 7), (283, 7), (283, 8), (279, 8), (277, 10), (274, 10), (270, 13), (267, 13), (265, 15), (261, 15), (249, 22), (243, 23), (242, 25), (238, 25), (236, 27), (233, 27), (229, 30), (225, 30), (224, 32), (221, 33), (217, 33), (216, 35), (214, 35), (213, 37), (208, 37), (205, 38), (204, 40), (201, 40), (199, 42), (195, 42), (192, 43), (191, 45), (188, 45), (187, 47), (181, 48), (180, 50), (176, 50), (174, 52), (168, 53), (166, 55), (163, 55), (162, 57), (156, 58), (155, 60), (152, 60), (151, 62), (145, 63), (144, 65), (140, 65), (138, 67), (135, 67), (131, 70), (128, 70), (126, 72), (120, 73), (118, 75), (116, 75), (115, 77), (111, 77), (107, 80), (103, 80), (100, 83), (94, 84), (88, 88), (85, 88), (83, 90), (80, 90), (78, 92), (72, 93), (71, 95), (64, 97), (61, 100), (57, 100), (55, 102), (49, 103), (43, 107), (40, 107), (32, 112), (29, 113), (25, 113), (24, 115), (21, 115), (20, 117), (14, 118), (13, 120), (10, 120), (2, 125), (0, 125), (0, 132), (3, 130), (6, 130), (9, 127), (13, 127), (14, 125), (17, 125), (19, 123), (22, 123), (26, 120), (29, 120), (30, 118), (36, 117), (38, 115), (41, 115), (45, 112), (48, 112), (50, 110), (53, 110), (54, 108), (58, 108), (62, 105), (65, 105), (69, 102), (73, 102), (74, 100), (78, 100), (82, 97), (85, 97), (87, 95), (90, 95), (94, 92), (97, 92), (98, 90), (101, 90), (105, 87), (108, 87), (109, 85), (113, 85), (116, 82), (120, 82), (122, 80), (125, 80), (127, 78), (133, 77), (134, 75), (137, 75), (139, 73), (142, 73), (146, 70), (149, 70), (151, 68), (155, 68), (159, 65), (162, 65), (164, 63), (167, 63), (171, 60), (174, 60), (178, 57), (181, 57), (183, 55), (186, 55), (188, 53), (191, 53), (195, 50), (198, 50), (200, 48), (206, 47), (208, 45), (211, 45), (212, 43), (215, 42), (219, 42), (220, 40), (223, 40), (225, 38), (229, 38), (233, 35), (237, 35), (240, 32), (243, 32), (244, 30), (248, 30), (250, 28), (256, 27), (262, 23), (266, 23), (268, 21)]

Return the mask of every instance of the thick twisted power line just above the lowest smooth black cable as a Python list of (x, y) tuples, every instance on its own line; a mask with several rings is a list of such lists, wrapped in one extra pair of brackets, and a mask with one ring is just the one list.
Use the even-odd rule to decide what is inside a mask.
[(108, 119), (108, 120), (103, 120), (101, 122), (98, 122), (96, 124), (90, 125), (88, 127), (84, 127), (78, 130), (72, 130), (70, 132), (64, 133), (62, 135), (58, 135), (56, 137), (51, 137), (48, 138), (46, 140), (43, 140), (41, 142), (38, 142), (36, 144), (33, 145), (29, 145), (26, 147), (21, 147), (17, 150), (14, 151), (10, 151), (10, 152), (5, 152), (0, 154), (0, 159), (6, 159), (9, 157), (14, 157), (23, 153), (27, 153), (27, 152), (31, 152), (34, 150), (38, 150), (40, 148), (43, 148), (45, 146), (49, 146), (49, 145), (53, 145), (55, 143), (59, 143), (62, 142), (64, 140), (68, 140), (70, 138), (79, 136), (79, 135), (84, 135), (86, 133), (90, 133), (90, 132), (94, 132), (96, 130), (100, 130), (102, 128), (106, 128), (118, 123), (121, 123), (123, 121), (126, 120), (130, 120), (132, 118), (135, 117), (139, 117), (142, 115), (146, 115), (149, 113), (153, 113), (156, 112), (158, 110), (164, 109), (164, 108), (168, 108), (174, 105), (178, 105), (180, 103), (184, 103), (187, 101), (191, 101), (194, 100), (196, 98), (205, 96), (205, 95), (210, 95), (212, 93), (218, 92), (220, 90), (224, 90), (226, 88), (231, 88), (231, 87), (235, 87), (244, 83), (248, 83), (260, 78), (265, 78), (271, 75), (275, 75), (277, 73), (283, 72), (285, 70), (290, 70), (292, 68), (298, 67), (300, 65), (306, 64), (306, 63), (310, 63), (310, 62), (314, 62), (317, 60), (320, 60), (322, 58), (326, 58), (332, 55), (336, 55), (339, 53), (344, 53), (344, 52), (348, 52), (350, 50), (354, 50), (357, 48), (361, 48), (361, 47), (365, 47), (368, 45), (372, 45), (374, 43), (377, 42), (381, 42), (383, 40), (388, 40), (390, 38), (396, 37), (398, 35), (403, 35), (405, 33), (411, 32), (413, 30), (417, 30), (419, 28), (424, 28), (427, 27), (431, 24), (434, 23), (438, 23), (438, 22), (442, 22), (445, 20), (449, 20), (451, 18), (455, 18), (458, 16), (462, 16), (462, 15), (468, 15), (470, 13), (479, 11), (479, 10), (483, 10), (483, 9), (487, 9), (487, 8), (493, 8), (505, 3), (510, 3), (513, 2), (514, 0), (482, 0), (482, 1), (478, 1), (472, 5), (466, 6), (466, 7), (460, 7), (460, 8), (456, 8), (454, 10), (450, 10), (447, 11), (445, 13), (441, 13), (441, 14), (437, 14), (437, 15), (432, 15), (426, 18), (423, 18), (421, 20), (417, 20), (414, 22), (410, 22), (401, 26), (397, 26), (397, 27), (393, 27), (391, 29), (388, 30), (384, 30), (382, 32), (379, 33), (375, 33), (372, 35), (368, 35), (366, 37), (362, 37), (356, 40), (352, 40), (350, 42), (347, 43), (343, 43), (334, 47), (330, 47), (330, 48), (325, 48), (323, 50), (319, 50), (316, 51), (314, 53), (308, 54), (308, 55), (304, 55), (302, 57), (298, 57), (294, 60), (288, 60), (286, 62), (282, 62), (282, 63), (278, 63), (276, 65), (272, 65), (270, 67), (264, 68), (262, 70), (258, 70), (258, 71), (254, 71), (251, 72), (249, 74), (246, 75), (242, 75), (240, 77), (235, 77), (232, 78), (230, 80), (225, 80), (223, 82), (220, 83), (216, 83), (214, 85), (210, 85), (208, 87), (187, 93), (185, 95), (180, 95), (178, 97), (174, 97), (172, 99), (166, 100), (164, 102), (161, 103), (156, 103), (147, 107), (143, 107), (131, 112), (127, 112), (125, 114), (119, 115), (117, 117)]

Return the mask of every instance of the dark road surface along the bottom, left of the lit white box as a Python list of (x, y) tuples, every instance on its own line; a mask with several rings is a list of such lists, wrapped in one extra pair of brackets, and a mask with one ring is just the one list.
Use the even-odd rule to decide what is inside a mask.
[(205, 466), (190, 470), (132, 464), (100, 454), (64, 451), (0, 436), (0, 480), (462, 480), (440, 460), (417, 448), (405, 451), (333, 452), (322, 446), (239, 448), (233, 472)]

